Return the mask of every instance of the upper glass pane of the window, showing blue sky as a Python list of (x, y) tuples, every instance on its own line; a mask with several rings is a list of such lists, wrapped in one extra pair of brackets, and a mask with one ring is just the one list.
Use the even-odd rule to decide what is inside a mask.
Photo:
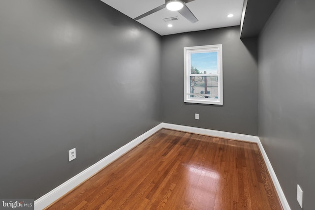
[(218, 52), (191, 53), (191, 74), (218, 73)]

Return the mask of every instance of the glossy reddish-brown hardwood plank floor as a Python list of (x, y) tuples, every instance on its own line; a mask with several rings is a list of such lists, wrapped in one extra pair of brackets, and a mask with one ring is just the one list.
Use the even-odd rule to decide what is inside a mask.
[(161, 129), (47, 210), (282, 210), (257, 144)]

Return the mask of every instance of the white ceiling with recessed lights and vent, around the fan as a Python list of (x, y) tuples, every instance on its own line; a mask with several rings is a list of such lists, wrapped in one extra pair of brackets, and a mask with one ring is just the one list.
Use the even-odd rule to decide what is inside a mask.
[[(165, 0), (101, 0), (118, 11), (134, 19), (162, 4)], [(154, 30), (160, 35), (207, 30), (230, 26), (239, 26), (241, 23), (244, 0), (194, 0), (186, 5), (199, 20), (197, 23), (190, 23), (180, 13), (169, 11), (166, 8), (146, 16), (139, 23)], [(228, 18), (228, 14), (234, 14)], [(172, 21), (172, 28), (168, 28), (164, 18), (178, 17)]]

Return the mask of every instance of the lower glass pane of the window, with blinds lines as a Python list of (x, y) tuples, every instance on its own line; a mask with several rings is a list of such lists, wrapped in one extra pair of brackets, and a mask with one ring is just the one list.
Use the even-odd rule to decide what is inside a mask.
[(190, 97), (218, 98), (218, 76), (190, 76)]

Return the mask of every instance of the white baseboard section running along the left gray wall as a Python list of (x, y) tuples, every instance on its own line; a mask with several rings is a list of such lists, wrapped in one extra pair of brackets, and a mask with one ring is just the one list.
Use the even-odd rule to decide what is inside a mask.
[(114, 151), (113, 153), (107, 155), (94, 165), (90, 166), (86, 170), (82, 171), (81, 173), (77, 174), (76, 176), (72, 177), (71, 179), (65, 181), (63, 184), (59, 185), (52, 191), (48, 192), (47, 194), (43, 195), (39, 199), (37, 199), (34, 202), (34, 209), (35, 210), (42, 210), (52, 203), (54, 203), (56, 200), (58, 200), (60, 197), (62, 197), (64, 194), (72, 190), (74, 187), (82, 183), (83, 181), (89, 179), (92, 175), (97, 173), (99, 170), (125, 154), (127, 151), (131, 150), (132, 148), (136, 147), (138, 144), (143, 142), (145, 139), (150, 137), (152, 134), (156, 133), (159, 129), (161, 129), (161, 123), (152, 128), (151, 130), (145, 132), (141, 136), (135, 138), (125, 146), (121, 147), (120, 149)]

